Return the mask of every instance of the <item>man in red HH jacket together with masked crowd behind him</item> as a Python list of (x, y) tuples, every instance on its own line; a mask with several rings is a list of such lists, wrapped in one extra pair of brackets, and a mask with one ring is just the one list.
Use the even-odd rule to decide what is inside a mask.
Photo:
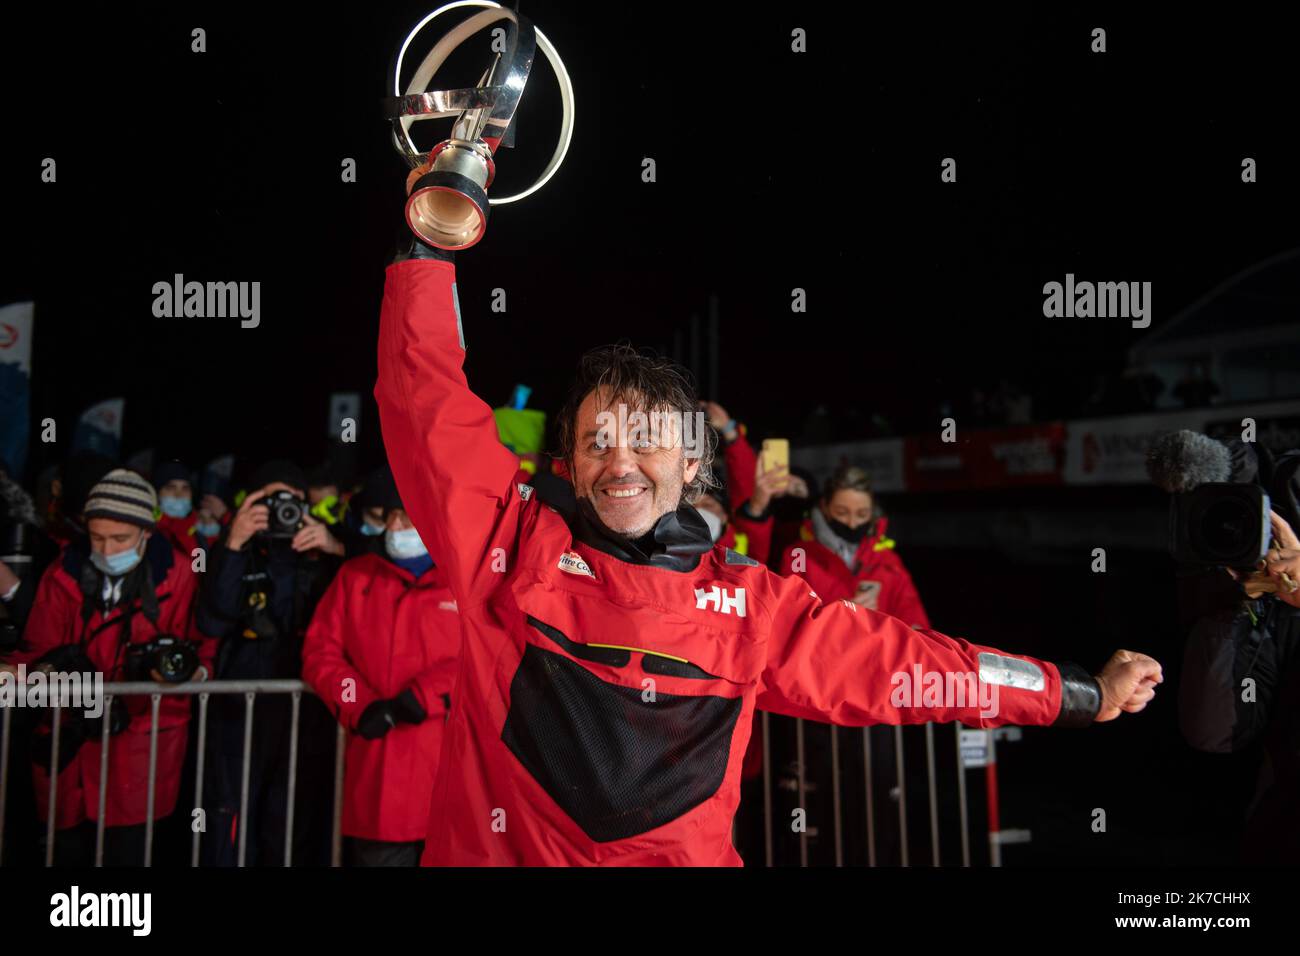
[[(181, 463), (66, 463), (31, 564), (0, 576), (6, 683), (46, 667), (300, 678), (315, 693), (213, 693), (203, 753), (185, 696), (46, 709), (30, 728), (32, 816), (53, 821), (56, 861), (142, 861), (190, 752), (208, 770), (192, 826), (217, 865), (324, 864), (338, 809), (355, 865), (734, 866), (758, 710), (1086, 727), (1143, 710), (1164, 680), (1135, 652), (1091, 672), (935, 631), (866, 472), (818, 489), (780, 446), (755, 455), (659, 356), (582, 355), (546, 458), (471, 390), (464, 347), (455, 255), (415, 241), (387, 267), (380, 317), (391, 471), (351, 488), (273, 460), (228, 502)], [(913, 671), (972, 693), (900, 700)]]

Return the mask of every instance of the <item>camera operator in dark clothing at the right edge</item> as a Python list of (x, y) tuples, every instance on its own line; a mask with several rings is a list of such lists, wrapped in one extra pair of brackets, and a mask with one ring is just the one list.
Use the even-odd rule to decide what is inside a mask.
[[(1188, 744), (1234, 754), (1232, 766), (1247, 761), (1256, 778), (1243, 808), (1242, 861), (1294, 865), (1300, 862), (1300, 538), (1294, 531), (1300, 519), (1300, 451), (1273, 454), (1184, 431), (1152, 444), (1148, 471), (1156, 485), (1180, 496), (1174, 550), (1188, 567), (1184, 580), (1191, 585), (1180, 604), (1196, 607), (1184, 649), (1179, 726)], [(1258, 528), (1223, 523), (1226, 511), (1217, 512), (1219, 522), (1210, 529), (1232, 533), (1209, 536), (1195, 527), (1195, 515), (1216, 512), (1192, 509), (1191, 493), (1209, 501), (1232, 486), (1258, 489), (1256, 494), (1266, 493), (1271, 502), (1271, 546), (1253, 567), (1216, 566), (1217, 555), (1187, 544), (1242, 540), (1258, 549)], [(1261, 523), (1258, 515), (1254, 523)], [(1191, 575), (1191, 561), (1204, 567)], [(1230, 791), (1223, 799), (1242, 805), (1240, 793)]]

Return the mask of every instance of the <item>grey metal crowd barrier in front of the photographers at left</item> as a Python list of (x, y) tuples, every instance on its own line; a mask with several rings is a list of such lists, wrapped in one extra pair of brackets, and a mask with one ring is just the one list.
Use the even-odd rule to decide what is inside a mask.
[[(55, 823), (57, 821), (58, 796), (58, 737), (61, 731), (61, 710), (66, 706), (66, 696), (70, 688), (62, 687), (58, 700), (49, 706), (52, 717), (52, 732), (49, 741), (49, 804), (46, 821), (46, 866), (53, 866), (55, 861)], [(147, 819), (144, 822), (144, 865), (151, 866), (153, 861), (153, 797), (157, 783), (157, 744), (159, 744), (159, 706), (164, 696), (186, 696), (199, 698), (199, 730), (195, 754), (195, 801), (203, 801), (203, 767), (205, 763), (205, 744), (208, 731), (208, 700), (212, 695), (242, 693), (244, 696), (244, 740), (243, 740), (243, 769), (239, 787), (239, 857), (238, 865), (244, 865), (248, 842), (248, 783), (252, 763), (252, 727), (254, 727), (254, 701), (259, 695), (287, 693), (292, 696), (292, 715), (289, 732), (289, 808), (285, 826), (285, 866), (292, 862), (294, 848), (294, 796), (298, 783), (298, 721), (303, 692), (313, 691), (302, 680), (204, 680), (185, 684), (157, 684), (152, 680), (143, 682), (110, 682), (104, 684), (104, 721), (100, 734), (99, 758), (99, 821), (95, 826), (95, 865), (104, 865), (104, 817), (108, 801), (108, 752), (109, 752), (109, 721), (113, 698), (117, 696), (148, 696), (152, 702), (150, 727), (150, 771), (148, 771), (148, 803)], [(3, 711), (3, 726), (0, 726), (0, 860), (4, 858), (4, 825), (5, 825), (5, 793), (9, 780), (9, 737), (13, 719), (9, 708), (0, 708)], [(334, 763), (334, 823), (330, 843), (330, 865), (342, 866), (343, 861), (343, 757), (347, 749), (347, 731), (343, 724), (338, 724), (335, 740)], [(195, 809), (202, 809), (196, 806)], [(205, 827), (204, 827), (205, 830)], [(195, 831), (190, 851), (190, 865), (199, 865), (199, 847), (203, 831)]]

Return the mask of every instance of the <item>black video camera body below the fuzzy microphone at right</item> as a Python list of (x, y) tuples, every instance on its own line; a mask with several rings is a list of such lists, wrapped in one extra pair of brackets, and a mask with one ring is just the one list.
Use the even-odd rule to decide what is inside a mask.
[(1213, 481), (1170, 502), (1170, 550), (1190, 564), (1253, 571), (1269, 550), (1269, 496), (1256, 484)]

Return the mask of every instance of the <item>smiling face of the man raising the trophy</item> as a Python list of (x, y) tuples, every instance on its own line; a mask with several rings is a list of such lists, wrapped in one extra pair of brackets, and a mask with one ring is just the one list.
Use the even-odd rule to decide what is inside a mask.
[(637, 428), (632, 415), (619, 421), (618, 411), (618, 402), (611, 406), (601, 390), (589, 393), (578, 406), (573, 490), (592, 502), (604, 527), (636, 538), (677, 510), (682, 488), (699, 471), (699, 459), (686, 458), (671, 418), (663, 428), (646, 429)]

